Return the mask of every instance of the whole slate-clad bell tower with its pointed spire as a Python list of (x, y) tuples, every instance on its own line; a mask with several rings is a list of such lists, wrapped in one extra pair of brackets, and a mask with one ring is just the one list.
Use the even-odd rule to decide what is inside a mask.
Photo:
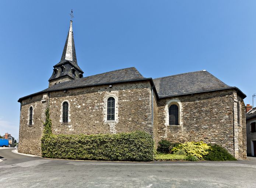
[(83, 71), (77, 65), (76, 49), (73, 36), (72, 21), (70, 21), (69, 32), (63, 49), (60, 62), (53, 66), (53, 73), (50, 77), (49, 87), (69, 80), (83, 77)]

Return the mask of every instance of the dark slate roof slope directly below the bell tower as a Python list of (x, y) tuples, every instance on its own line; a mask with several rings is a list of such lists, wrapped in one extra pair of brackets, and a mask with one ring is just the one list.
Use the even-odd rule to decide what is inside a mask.
[(126, 69), (119, 69), (116, 71), (105, 72), (98, 75), (87, 76), (80, 79), (70, 80), (68, 82), (53, 85), (52, 87), (49, 87), (43, 91), (60, 90), (65, 88), (83, 87), (138, 79), (145, 79), (145, 77), (143, 77), (135, 67), (131, 67)]

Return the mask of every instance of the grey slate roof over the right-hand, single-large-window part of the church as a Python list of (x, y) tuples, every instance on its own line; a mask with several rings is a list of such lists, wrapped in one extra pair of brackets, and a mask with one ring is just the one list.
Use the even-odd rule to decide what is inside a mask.
[(207, 71), (183, 73), (153, 79), (159, 98), (233, 88)]

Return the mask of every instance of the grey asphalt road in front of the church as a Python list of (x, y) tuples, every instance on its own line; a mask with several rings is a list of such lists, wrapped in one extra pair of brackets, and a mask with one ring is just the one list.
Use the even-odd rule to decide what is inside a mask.
[(0, 148), (4, 187), (255, 188), (256, 158), (235, 162), (95, 162), (44, 159)]

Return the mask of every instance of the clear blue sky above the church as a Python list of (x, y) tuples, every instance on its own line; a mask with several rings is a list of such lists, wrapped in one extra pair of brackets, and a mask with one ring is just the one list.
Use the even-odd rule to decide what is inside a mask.
[[(206, 69), (256, 93), (256, 1), (0, 1), (0, 134), (18, 137), (18, 98), (48, 87), (74, 11), (84, 76), (136, 67), (144, 77)], [(256, 98), (255, 98), (256, 104)]]

